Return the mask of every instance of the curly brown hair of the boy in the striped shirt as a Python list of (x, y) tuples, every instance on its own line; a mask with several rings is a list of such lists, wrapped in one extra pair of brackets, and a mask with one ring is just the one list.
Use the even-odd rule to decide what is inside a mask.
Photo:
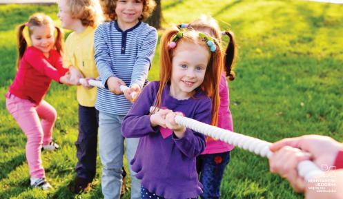
[[(115, 8), (117, 6), (118, 0), (100, 0), (102, 11), (107, 20), (116, 20), (117, 14), (115, 14)], [(139, 20), (145, 21), (150, 17), (151, 12), (156, 7), (154, 0), (141, 0), (143, 2), (143, 12)]]

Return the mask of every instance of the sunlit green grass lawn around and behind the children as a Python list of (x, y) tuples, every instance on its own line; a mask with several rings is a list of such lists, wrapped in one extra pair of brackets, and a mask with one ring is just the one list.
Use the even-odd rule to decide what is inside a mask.
[[(218, 3), (220, 2), (220, 3)], [(309, 1), (164, 0), (164, 26), (212, 14), (235, 32), (237, 78), (229, 83), (235, 132), (273, 142), (289, 136), (343, 136), (342, 6)], [(57, 6), (0, 6), (0, 96), (15, 74), (14, 28), (33, 12), (60, 24)], [(158, 78), (157, 50), (149, 79)], [(98, 163), (92, 191), (73, 195), (66, 186), (75, 176), (77, 138), (75, 87), (52, 84), (46, 101), (59, 118), (54, 138), (62, 149), (43, 153), (46, 175), (55, 187), (29, 188), (26, 137), (0, 98), (0, 198), (101, 198)], [(99, 161), (98, 161), (99, 162)], [(286, 180), (268, 172), (268, 161), (234, 149), (222, 185), (222, 198), (303, 198)], [(128, 198), (128, 195), (126, 195)]]

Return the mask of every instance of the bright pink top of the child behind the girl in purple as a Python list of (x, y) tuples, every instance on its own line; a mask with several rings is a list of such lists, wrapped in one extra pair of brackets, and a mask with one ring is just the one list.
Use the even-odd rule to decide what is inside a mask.
[[(233, 132), (233, 118), (230, 109), (228, 109), (230, 100), (228, 97), (228, 82), (224, 73), (220, 77), (219, 82), (219, 114), (218, 114), (218, 127), (228, 129)], [(235, 146), (222, 142), (221, 140), (214, 140), (210, 138), (206, 142), (205, 151), (202, 154), (217, 154), (226, 151), (231, 151)]]

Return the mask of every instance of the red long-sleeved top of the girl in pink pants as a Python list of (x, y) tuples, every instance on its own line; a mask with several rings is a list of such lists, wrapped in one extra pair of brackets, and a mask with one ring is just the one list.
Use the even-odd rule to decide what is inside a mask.
[(57, 50), (50, 50), (46, 58), (41, 50), (30, 46), (20, 60), (10, 93), (38, 105), (48, 92), (51, 80), (59, 82), (59, 78), (68, 72), (62, 61)]

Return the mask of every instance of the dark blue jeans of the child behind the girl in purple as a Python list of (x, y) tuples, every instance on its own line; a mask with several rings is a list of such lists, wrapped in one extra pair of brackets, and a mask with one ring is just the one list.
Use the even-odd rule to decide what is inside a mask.
[(202, 199), (219, 199), (220, 185), (226, 165), (230, 162), (230, 151), (219, 154), (205, 154), (197, 157), (197, 172), (204, 188)]

